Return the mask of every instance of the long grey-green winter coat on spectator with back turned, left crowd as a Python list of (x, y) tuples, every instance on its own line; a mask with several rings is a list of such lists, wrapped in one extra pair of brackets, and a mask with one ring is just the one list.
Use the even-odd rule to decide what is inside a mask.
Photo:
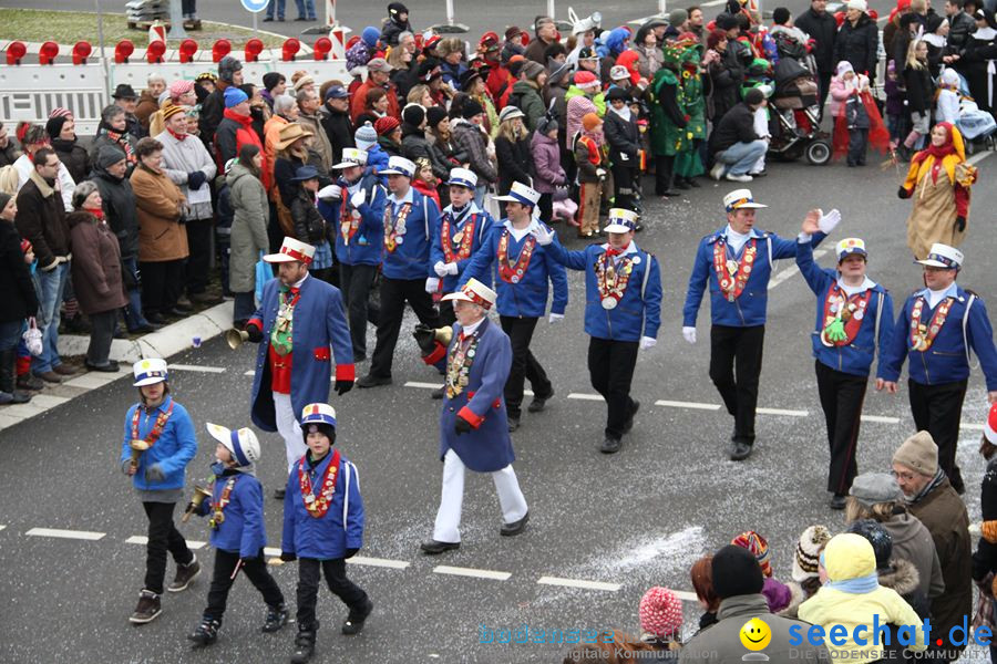
[(241, 164), (234, 164), (225, 176), (232, 219), (232, 252), (228, 258), (228, 286), (233, 292), (248, 293), (256, 288), (256, 263), (266, 251), (267, 220), (270, 216), (263, 183)]

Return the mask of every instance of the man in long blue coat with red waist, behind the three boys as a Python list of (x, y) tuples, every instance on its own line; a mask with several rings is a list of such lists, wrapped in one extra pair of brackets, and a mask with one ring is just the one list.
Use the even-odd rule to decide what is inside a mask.
[[(298, 415), (306, 404), (329, 401), (330, 360), (336, 360), (340, 396), (353, 387), (356, 376), (342, 297), (335, 286), (309, 277), (314, 256), (315, 247), (294, 238), (284, 238), (279, 252), (264, 256), (278, 266), (277, 279), (264, 287), (259, 309), (246, 323), (249, 341), (259, 343), (253, 424), (280, 433), (288, 470), (306, 452)], [(284, 490), (275, 497), (284, 498)]]

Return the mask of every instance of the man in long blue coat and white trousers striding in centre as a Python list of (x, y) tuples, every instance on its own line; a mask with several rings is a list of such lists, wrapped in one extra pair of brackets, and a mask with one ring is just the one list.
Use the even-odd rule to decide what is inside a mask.
[(502, 507), (500, 535), (520, 535), (530, 519), (526, 499), (512, 467), (515, 454), (502, 397), (502, 385), (512, 364), (512, 345), (508, 336), (487, 318), (496, 298), (495, 291), (470, 279), (461, 290), (444, 295), (453, 302), (458, 321), (449, 344), (438, 341), (438, 331), (430, 328), (419, 328), (414, 334), (423, 360), (435, 364), (445, 359), (446, 366), (440, 413), (443, 489), (433, 539), (422, 544), (422, 551), (430, 556), (461, 546), (465, 468), (492, 475)]

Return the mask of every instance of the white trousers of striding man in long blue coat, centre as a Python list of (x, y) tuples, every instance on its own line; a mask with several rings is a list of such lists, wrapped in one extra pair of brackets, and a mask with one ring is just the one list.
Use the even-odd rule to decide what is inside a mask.
[[(438, 542), (461, 541), (461, 509), (464, 504), (464, 470), (466, 466), (452, 449), (443, 456), (443, 491), (440, 510), (433, 526), (433, 539)], [(514, 523), (526, 516), (526, 498), (520, 490), (520, 481), (512, 464), (490, 474), (498, 494), (498, 506), (505, 523)]]

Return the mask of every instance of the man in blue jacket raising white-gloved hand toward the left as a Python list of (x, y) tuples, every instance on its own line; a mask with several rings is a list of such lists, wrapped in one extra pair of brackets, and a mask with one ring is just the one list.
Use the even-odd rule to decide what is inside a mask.
[(553, 231), (537, 229), (537, 241), (551, 257), (573, 270), (585, 271), (585, 333), (592, 386), (608, 405), (604, 454), (619, 452), (623, 436), (634, 426), (640, 403), (630, 398), (638, 349), (657, 343), (661, 324), (661, 273), (658, 260), (634, 241), (637, 212), (609, 210), (605, 245), (567, 251)]

